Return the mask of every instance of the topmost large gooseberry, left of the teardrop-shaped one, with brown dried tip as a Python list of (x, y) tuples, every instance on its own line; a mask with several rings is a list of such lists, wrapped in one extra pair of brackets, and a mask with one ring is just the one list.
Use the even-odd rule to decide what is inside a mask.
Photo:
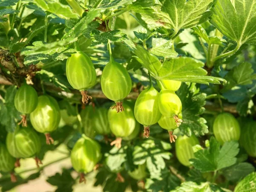
[(82, 102), (87, 104), (91, 96), (87, 90), (96, 83), (96, 71), (90, 57), (84, 52), (77, 51), (67, 59), (67, 80), (74, 89), (80, 90)]

